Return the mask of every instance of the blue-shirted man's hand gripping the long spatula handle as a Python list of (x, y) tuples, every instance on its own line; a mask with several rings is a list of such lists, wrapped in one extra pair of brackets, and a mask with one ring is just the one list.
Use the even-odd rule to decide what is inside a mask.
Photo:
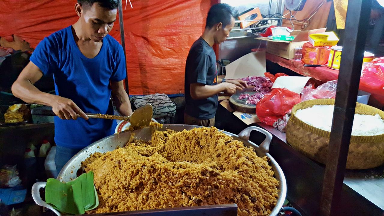
[(55, 100), (51, 103), (52, 111), (61, 119), (76, 120), (79, 114), (85, 120), (88, 116), (70, 99), (55, 95)]

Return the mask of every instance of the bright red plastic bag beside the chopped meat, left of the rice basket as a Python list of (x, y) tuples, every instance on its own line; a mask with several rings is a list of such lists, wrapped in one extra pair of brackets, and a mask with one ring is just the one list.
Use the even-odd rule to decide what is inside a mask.
[(291, 112), (300, 103), (300, 95), (286, 88), (274, 88), (256, 105), (256, 115), (263, 123), (273, 125), (279, 118)]

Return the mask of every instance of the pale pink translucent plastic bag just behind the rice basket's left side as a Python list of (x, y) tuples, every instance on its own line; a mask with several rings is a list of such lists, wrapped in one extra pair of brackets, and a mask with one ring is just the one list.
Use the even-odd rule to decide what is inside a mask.
[(301, 91), (301, 101), (335, 98), (336, 97), (337, 80), (328, 81), (319, 85), (316, 89), (303, 88)]

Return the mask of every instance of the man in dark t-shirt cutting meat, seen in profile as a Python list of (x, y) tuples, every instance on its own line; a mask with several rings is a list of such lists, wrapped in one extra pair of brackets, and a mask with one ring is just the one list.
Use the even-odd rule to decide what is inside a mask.
[(218, 93), (236, 93), (247, 87), (242, 80), (217, 78), (212, 46), (222, 43), (235, 25), (235, 11), (228, 4), (216, 4), (208, 12), (203, 35), (189, 50), (185, 64), (185, 114), (187, 125), (214, 126)]

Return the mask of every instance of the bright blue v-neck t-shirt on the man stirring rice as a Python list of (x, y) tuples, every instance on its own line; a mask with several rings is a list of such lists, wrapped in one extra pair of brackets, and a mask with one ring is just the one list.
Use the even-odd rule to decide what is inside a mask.
[[(98, 55), (87, 58), (77, 47), (69, 26), (44, 38), (30, 61), (44, 75), (53, 74), (56, 95), (73, 100), (85, 113), (113, 115), (109, 81), (124, 80), (126, 71), (123, 49), (110, 35), (103, 39)], [(83, 148), (112, 135), (115, 128), (114, 120), (61, 120), (55, 116), (55, 142), (67, 148)]]

